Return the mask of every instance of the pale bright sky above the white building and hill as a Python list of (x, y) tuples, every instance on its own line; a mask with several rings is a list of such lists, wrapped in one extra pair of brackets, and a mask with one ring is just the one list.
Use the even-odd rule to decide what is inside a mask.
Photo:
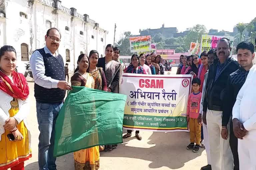
[[(62, 0), (62, 5), (87, 14), (105, 30), (113, 44), (125, 31), (139, 34), (139, 29), (177, 27), (178, 31), (196, 24), (209, 29), (233, 31), (237, 23), (248, 23), (256, 17), (255, 0)], [(251, 9), (250, 9), (251, 8)]]

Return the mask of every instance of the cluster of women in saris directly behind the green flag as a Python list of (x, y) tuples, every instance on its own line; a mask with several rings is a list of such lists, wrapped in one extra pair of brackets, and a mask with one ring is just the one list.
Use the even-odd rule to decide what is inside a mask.
[[(71, 85), (118, 93), (122, 64), (118, 62), (118, 57), (115, 58), (117, 61), (112, 59), (114, 52), (119, 55), (119, 49), (108, 44), (103, 58), (99, 58), (96, 50), (90, 51), (89, 57), (81, 54), (77, 61), (78, 67), (71, 77)], [(99, 169), (100, 150), (107, 151), (116, 147), (116, 144), (110, 144), (76, 151), (74, 153), (75, 169)]]

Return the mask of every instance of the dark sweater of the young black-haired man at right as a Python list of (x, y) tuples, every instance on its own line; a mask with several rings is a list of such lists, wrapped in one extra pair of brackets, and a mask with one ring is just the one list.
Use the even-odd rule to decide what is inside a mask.
[(226, 94), (223, 101), (223, 113), (222, 113), (222, 126), (227, 126), (230, 116), (232, 115), (232, 109), (236, 102), (236, 97), (243, 86), (249, 70), (246, 71), (240, 67), (235, 72), (231, 73), (228, 78)]

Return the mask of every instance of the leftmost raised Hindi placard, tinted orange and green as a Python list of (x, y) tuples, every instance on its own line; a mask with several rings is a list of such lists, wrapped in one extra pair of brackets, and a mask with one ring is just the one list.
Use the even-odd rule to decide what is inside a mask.
[(151, 36), (130, 37), (130, 51), (141, 52), (151, 50)]

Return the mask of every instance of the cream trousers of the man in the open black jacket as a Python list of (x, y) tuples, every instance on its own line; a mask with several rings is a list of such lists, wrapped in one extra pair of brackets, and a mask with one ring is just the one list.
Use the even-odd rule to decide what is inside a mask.
[[(221, 137), (222, 111), (207, 109), (206, 122), (210, 143), (210, 155), (212, 170), (233, 170), (233, 154), (228, 139)], [(230, 123), (227, 125), (230, 132)]]

